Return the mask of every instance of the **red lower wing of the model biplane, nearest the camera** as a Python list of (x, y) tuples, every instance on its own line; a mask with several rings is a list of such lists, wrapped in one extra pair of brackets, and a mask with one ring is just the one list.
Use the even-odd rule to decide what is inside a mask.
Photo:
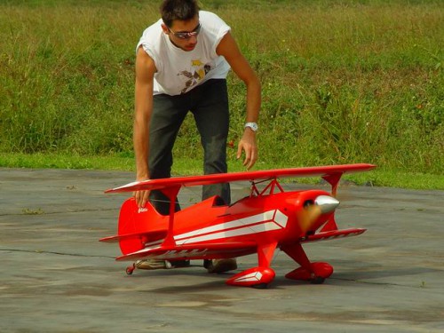
[(187, 259), (218, 259), (235, 258), (254, 253), (257, 250), (255, 242), (224, 242), (211, 244), (186, 244), (180, 246), (158, 246), (146, 248), (116, 260), (138, 260), (138, 259), (158, 259), (158, 260), (187, 260)]

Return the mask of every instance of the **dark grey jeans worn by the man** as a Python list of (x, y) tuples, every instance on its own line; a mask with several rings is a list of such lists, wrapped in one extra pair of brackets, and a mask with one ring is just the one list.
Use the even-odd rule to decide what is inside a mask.
[[(203, 173), (223, 173), (226, 166), (226, 139), (229, 127), (228, 93), (225, 79), (213, 79), (182, 95), (155, 95), (149, 131), (150, 178), (170, 178), (172, 147), (186, 114), (194, 115), (203, 147)], [(230, 203), (229, 184), (202, 187), (202, 200), (219, 195)], [(161, 191), (152, 191), (150, 201), (163, 215), (170, 202)], [(178, 202), (176, 210), (180, 210)]]

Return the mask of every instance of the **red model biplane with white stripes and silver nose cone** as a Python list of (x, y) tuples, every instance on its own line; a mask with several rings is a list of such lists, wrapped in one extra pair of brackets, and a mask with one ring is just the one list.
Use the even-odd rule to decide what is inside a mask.
[[(123, 203), (116, 236), (101, 242), (119, 242), (123, 256), (116, 260), (217, 259), (258, 253), (258, 266), (235, 274), (226, 281), (235, 286), (263, 288), (274, 280), (271, 263), (280, 248), (299, 267), (286, 274), (294, 280), (322, 283), (333, 273), (323, 262), (310, 262), (304, 242), (330, 240), (362, 234), (366, 229), (339, 230), (335, 221), (335, 198), (344, 173), (371, 170), (371, 164), (292, 168), (213, 174), (197, 177), (150, 179), (107, 190), (106, 193), (160, 189), (170, 199), (170, 215), (160, 215), (148, 202), (139, 208), (133, 198)], [(285, 192), (277, 178), (321, 177), (332, 187)], [(250, 180), (250, 195), (226, 205), (217, 196), (174, 211), (182, 186)], [(258, 184), (268, 182), (259, 190)], [(135, 265), (127, 268), (132, 274)]]

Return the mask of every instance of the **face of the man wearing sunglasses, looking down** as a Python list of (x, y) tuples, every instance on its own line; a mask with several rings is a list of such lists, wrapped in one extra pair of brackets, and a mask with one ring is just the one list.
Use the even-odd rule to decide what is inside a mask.
[(197, 44), (197, 35), (199, 34), (201, 25), (199, 17), (193, 20), (173, 20), (170, 28), (162, 25), (163, 32), (170, 37), (172, 44), (178, 48), (190, 52), (194, 50)]

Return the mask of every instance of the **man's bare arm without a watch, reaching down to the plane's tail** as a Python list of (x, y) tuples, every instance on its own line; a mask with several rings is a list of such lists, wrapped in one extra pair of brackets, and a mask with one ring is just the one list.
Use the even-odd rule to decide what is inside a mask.
[[(147, 52), (139, 47), (136, 58), (135, 113), (133, 128), (133, 146), (136, 155), (136, 180), (149, 179), (149, 122), (153, 111), (153, 82), (155, 62)], [(139, 207), (144, 207), (149, 191), (134, 193)]]

